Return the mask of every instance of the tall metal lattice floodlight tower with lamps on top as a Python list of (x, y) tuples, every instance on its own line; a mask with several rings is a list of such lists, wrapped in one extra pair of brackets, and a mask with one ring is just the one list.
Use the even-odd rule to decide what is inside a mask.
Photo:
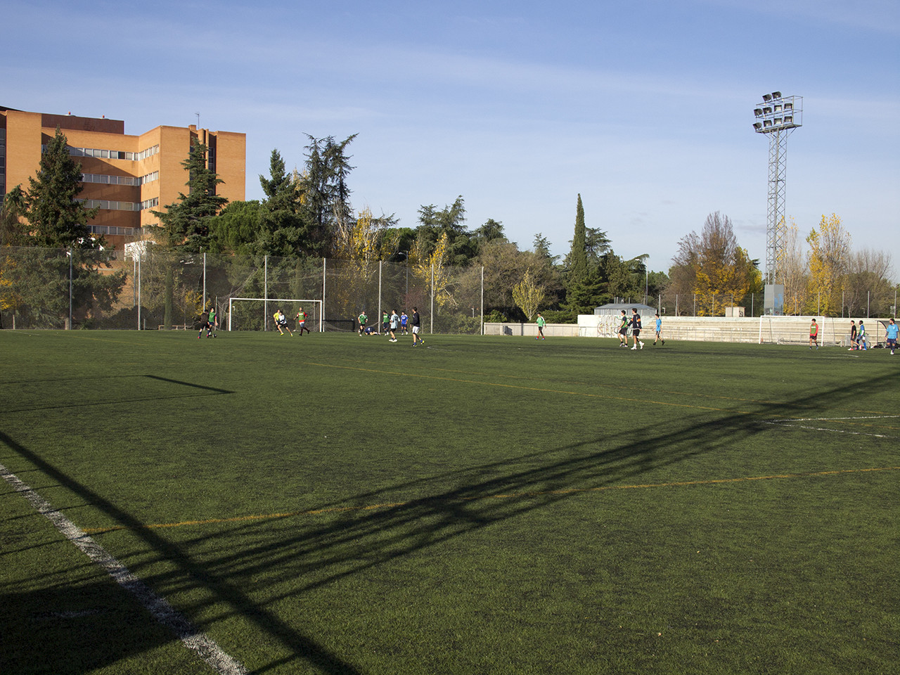
[[(803, 96), (783, 96), (781, 92), (762, 95), (762, 103), (753, 109), (753, 130), (769, 134), (769, 207), (766, 222), (766, 301), (767, 314), (780, 314), (784, 306), (784, 285), (780, 291), (780, 262), (785, 238), (785, 170), (788, 136), (803, 126)], [(781, 302), (778, 302), (778, 301)]]

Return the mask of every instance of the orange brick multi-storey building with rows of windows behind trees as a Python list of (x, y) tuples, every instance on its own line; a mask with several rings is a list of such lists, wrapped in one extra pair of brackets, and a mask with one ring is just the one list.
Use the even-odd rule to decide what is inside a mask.
[(81, 163), (85, 206), (99, 206), (88, 224), (115, 247), (140, 237), (156, 225), (151, 210), (164, 210), (187, 189), (182, 162), (192, 139), (209, 148), (208, 166), (223, 184), (217, 193), (229, 202), (245, 199), (247, 136), (233, 131), (160, 126), (133, 136), (125, 122), (105, 117), (24, 112), (0, 106), (0, 195), (37, 174), (41, 149), (57, 128), (67, 138), (69, 154)]

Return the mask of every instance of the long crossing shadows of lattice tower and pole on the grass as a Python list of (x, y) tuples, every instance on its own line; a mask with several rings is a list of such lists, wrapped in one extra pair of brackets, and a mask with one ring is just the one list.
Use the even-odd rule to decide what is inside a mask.
[[(892, 380), (887, 376), (873, 378), (865, 386), (871, 391), (880, 391)], [(859, 390), (860, 383), (853, 383), (817, 394), (816, 400), (832, 409), (839, 408), (851, 401)], [(343, 502), (349, 510), (340, 513), (338, 518), (304, 519), (292, 521), (289, 526), (281, 520), (277, 527), (273, 527), (271, 521), (257, 520), (220, 527), (215, 535), (196, 536), (179, 544), (167, 540), (160, 530), (144, 527), (137, 518), (2, 432), (0, 442), (94, 505), (113, 522), (132, 530), (154, 558), (136, 565), (132, 572), (139, 572), (144, 565), (159, 561), (174, 567), (173, 572), (148, 575), (145, 581), (150, 585), (163, 590), (205, 590), (207, 599), (183, 608), (188, 617), (223, 603), (228, 606), (228, 613), (257, 626), (267, 639), (277, 641), (291, 654), (260, 665), (255, 672), (280, 666), (296, 668), (302, 664), (324, 673), (352, 674), (361, 671), (323, 646), (315, 636), (305, 634), (280, 616), (275, 608), (277, 603), (509, 518), (545, 509), (585, 490), (622, 485), (646, 473), (714, 452), (722, 446), (770, 433), (772, 428), (764, 423), (765, 419), (779, 417), (791, 405), (804, 400), (797, 396), (796, 401), (757, 402), (753, 404), (752, 415), (746, 412), (698, 412), (682, 419), (680, 428), (670, 428), (662, 433), (649, 424), (635, 428), (627, 440), (619, 443), (596, 437), (569, 446), (525, 453), (515, 460), (484, 463), (401, 482), (380, 491), (361, 492), (353, 500)], [(520, 468), (514, 468), (513, 464)], [(378, 504), (382, 498), (403, 491), (424, 496), (366, 509)], [(275, 540), (274, 530), (279, 535)], [(233, 542), (236, 539), (252, 539), (256, 543), (235, 549)], [(204, 555), (199, 550), (201, 547), (206, 551), (216, 548), (226, 553)], [(192, 554), (195, 548), (198, 551)], [(284, 589), (286, 581), (291, 581), (287, 584), (289, 589)], [(260, 600), (260, 596), (265, 599)], [(223, 616), (220, 609), (215, 614)], [(228, 651), (228, 645), (222, 646)]]

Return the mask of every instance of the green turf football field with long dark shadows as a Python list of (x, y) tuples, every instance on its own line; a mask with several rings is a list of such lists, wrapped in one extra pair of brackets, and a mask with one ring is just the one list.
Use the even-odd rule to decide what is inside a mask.
[[(896, 672), (900, 356), (426, 338), (0, 331), (0, 464), (249, 672)], [(213, 672), (0, 486), (0, 672)]]

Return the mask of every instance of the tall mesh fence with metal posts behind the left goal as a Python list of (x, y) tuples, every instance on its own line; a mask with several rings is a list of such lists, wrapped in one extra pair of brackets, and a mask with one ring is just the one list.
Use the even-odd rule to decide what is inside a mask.
[[(124, 251), (0, 248), (4, 329), (199, 329), (215, 307), (220, 329), (271, 330), (281, 309), (307, 327), (355, 330), (365, 311), (381, 328), (392, 310), (435, 333), (481, 331), (481, 267), (382, 261), (184, 254), (130, 244)], [(243, 299), (243, 300), (237, 300)]]

